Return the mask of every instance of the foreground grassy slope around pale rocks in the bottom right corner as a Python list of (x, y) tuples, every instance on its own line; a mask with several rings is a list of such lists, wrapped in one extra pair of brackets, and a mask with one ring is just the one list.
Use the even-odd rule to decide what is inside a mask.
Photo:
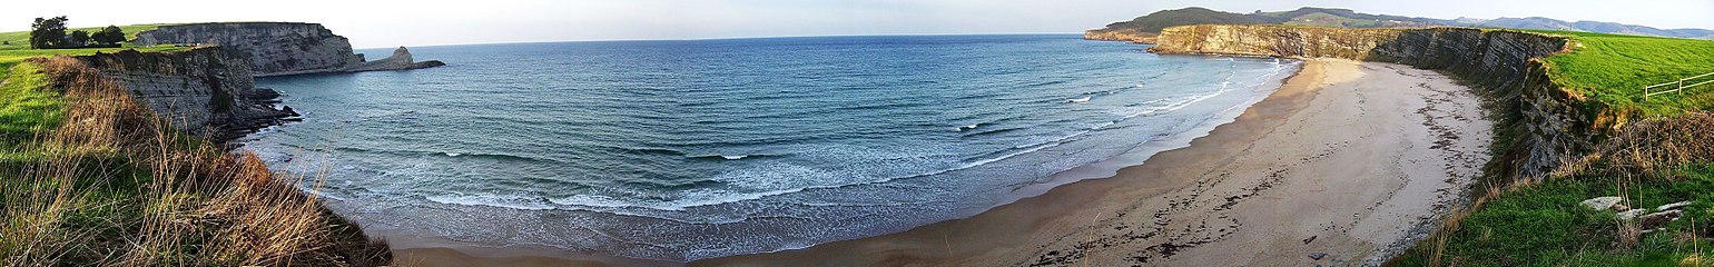
[[(1395, 265), (1678, 265), (1714, 257), (1707, 224), (1714, 222), (1714, 166), (1685, 168), (1678, 181), (1579, 175), (1510, 190), (1464, 217), (1440, 252), (1435, 241)], [(1635, 207), (1695, 200), (1664, 231), (1625, 234), (1613, 211), (1577, 205), (1592, 197), (1623, 195)], [(1692, 228), (1695, 221), (1695, 228)], [(1700, 229), (1700, 231), (1699, 231)], [(1438, 255), (1438, 257), (1436, 257)], [(1693, 262), (1693, 260), (1692, 260)]]

